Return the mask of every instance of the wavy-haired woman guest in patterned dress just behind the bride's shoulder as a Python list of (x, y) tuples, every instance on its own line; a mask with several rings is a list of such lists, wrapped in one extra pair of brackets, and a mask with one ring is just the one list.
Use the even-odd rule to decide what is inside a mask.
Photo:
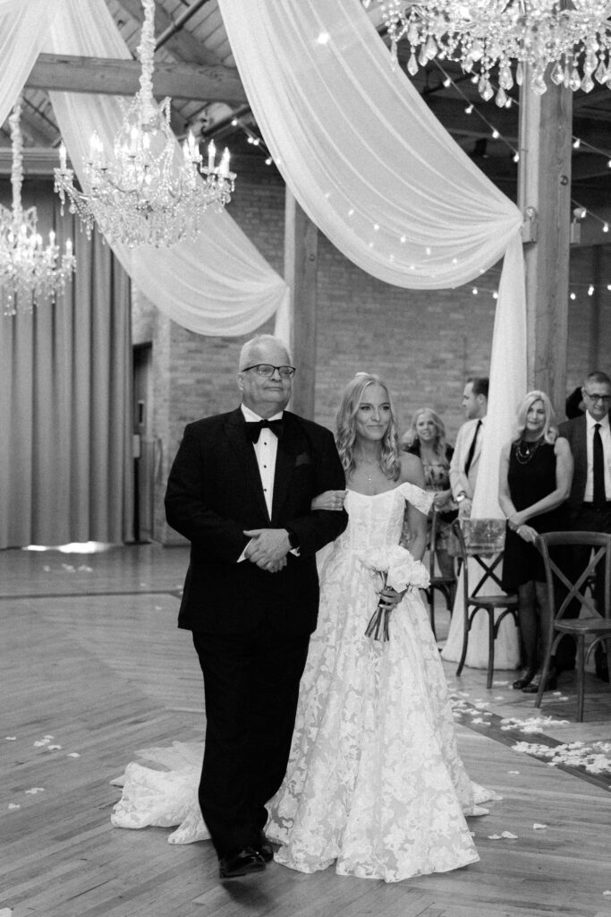
[[(445, 427), (442, 418), (430, 407), (421, 407), (411, 418), (409, 430), (401, 437), (405, 452), (416, 455), (422, 462), (427, 491), (434, 491), (431, 513), (436, 511), (437, 536), (435, 550), (442, 577), (454, 575), (453, 558), (448, 553), (448, 540), (453, 520), (457, 516), (456, 504), (450, 490), (450, 461), (453, 447), (445, 441)], [(429, 531), (431, 517), (429, 518)]]

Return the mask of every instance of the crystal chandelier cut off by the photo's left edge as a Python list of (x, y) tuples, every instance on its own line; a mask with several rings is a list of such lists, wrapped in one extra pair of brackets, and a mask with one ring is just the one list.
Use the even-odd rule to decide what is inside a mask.
[(65, 291), (66, 282), (76, 268), (71, 239), (66, 242), (60, 259), (55, 233), (49, 232), (49, 244), (43, 246), (36, 207), (24, 210), (21, 205), (23, 139), (20, 119), (21, 99), (17, 99), (8, 117), (13, 152), (13, 208), (7, 210), (0, 204), (0, 287), (6, 293), (5, 315), (16, 315), (17, 306), (22, 312), (31, 312), (41, 299), (54, 301)]

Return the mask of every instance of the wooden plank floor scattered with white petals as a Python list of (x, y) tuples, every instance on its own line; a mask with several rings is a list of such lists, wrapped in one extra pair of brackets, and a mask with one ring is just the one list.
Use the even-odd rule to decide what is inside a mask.
[[(221, 884), (209, 842), (113, 828), (110, 781), (134, 750), (202, 736), (201, 675), (175, 626), (185, 566), (182, 548), (157, 546), (0, 552), (2, 917), (611, 915), (611, 773), (587, 779), (513, 751), (540, 738), (501, 719), (540, 714), (507, 687), (507, 672), (486, 691), (484, 672), (454, 679), (446, 666), (463, 692), (465, 764), (503, 796), (470, 820), (475, 866), (385, 885), (271, 864)], [(608, 686), (589, 681), (584, 724), (574, 723), (571, 676), (560, 688), (541, 713), (570, 722), (547, 725), (549, 740), (611, 741)], [(517, 837), (490, 837), (503, 832)]]

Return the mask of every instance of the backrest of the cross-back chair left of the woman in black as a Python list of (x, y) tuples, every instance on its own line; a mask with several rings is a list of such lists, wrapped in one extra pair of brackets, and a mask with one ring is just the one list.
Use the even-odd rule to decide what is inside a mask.
[[(458, 555), (463, 569), (464, 602), (469, 597), (488, 594), (494, 585), (495, 591), (503, 591), (496, 568), (503, 559), (505, 547), (505, 519), (455, 519), (453, 533), (458, 541)], [(469, 558), (473, 558), (480, 570), (475, 588), (469, 586)]]

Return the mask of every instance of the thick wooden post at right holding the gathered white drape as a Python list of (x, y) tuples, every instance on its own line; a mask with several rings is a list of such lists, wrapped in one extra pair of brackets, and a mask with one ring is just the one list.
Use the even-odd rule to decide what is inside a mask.
[(560, 418), (566, 398), (571, 231), (573, 94), (549, 83), (520, 92), (518, 206), (537, 212), (536, 240), (525, 242), (528, 384), (551, 397)]

